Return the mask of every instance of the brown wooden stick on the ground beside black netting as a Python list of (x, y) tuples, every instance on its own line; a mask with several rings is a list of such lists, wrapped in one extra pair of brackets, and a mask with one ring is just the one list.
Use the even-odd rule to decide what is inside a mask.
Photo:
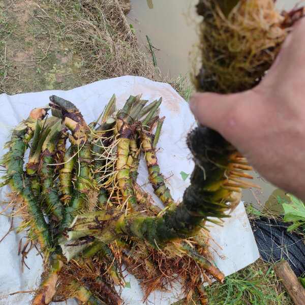
[(275, 269), (276, 275), (282, 281), (294, 304), (305, 305), (305, 289), (298, 281), (288, 262), (280, 261), (273, 269)]

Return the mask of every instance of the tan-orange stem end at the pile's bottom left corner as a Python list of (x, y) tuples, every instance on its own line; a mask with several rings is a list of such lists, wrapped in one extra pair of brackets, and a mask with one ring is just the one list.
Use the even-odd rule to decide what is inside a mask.
[(55, 287), (58, 281), (58, 275), (64, 266), (65, 258), (60, 255), (53, 255), (51, 258), (51, 267), (47, 277), (40, 284), (40, 287), (33, 300), (33, 305), (47, 305), (52, 301), (55, 294)]

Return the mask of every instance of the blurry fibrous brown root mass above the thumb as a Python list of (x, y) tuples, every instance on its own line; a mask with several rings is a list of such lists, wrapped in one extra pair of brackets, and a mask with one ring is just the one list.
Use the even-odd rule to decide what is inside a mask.
[(288, 33), (273, 0), (240, 0), (228, 17), (217, 1), (200, 0), (198, 14), (204, 21), (196, 86), (204, 91), (251, 89), (274, 62)]

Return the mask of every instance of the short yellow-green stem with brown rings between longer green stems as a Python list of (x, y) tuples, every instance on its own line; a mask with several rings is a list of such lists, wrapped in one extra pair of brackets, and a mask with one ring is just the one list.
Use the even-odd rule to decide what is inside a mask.
[(65, 153), (63, 168), (59, 170), (59, 184), (62, 197), (60, 198), (65, 205), (70, 202), (73, 193), (73, 168), (75, 164), (75, 149), (74, 145), (71, 145)]

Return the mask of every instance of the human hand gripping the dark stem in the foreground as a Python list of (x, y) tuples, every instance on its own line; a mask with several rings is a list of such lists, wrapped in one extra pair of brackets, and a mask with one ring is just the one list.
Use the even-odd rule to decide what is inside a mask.
[(305, 199), (305, 18), (265, 78), (247, 92), (196, 93), (199, 122), (218, 131), (278, 187)]

